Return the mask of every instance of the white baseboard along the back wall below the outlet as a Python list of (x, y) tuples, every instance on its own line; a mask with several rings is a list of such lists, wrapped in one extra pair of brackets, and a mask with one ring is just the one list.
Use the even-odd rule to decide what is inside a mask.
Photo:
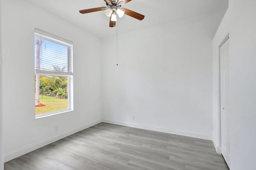
[(115, 121), (115, 120), (110, 120), (110, 119), (103, 119), (102, 122), (116, 124), (116, 125), (123, 125), (123, 126), (128, 126), (128, 127), (136, 127), (139, 129), (146, 129), (146, 130), (150, 130), (150, 131), (158, 131), (158, 132), (170, 133), (170, 134), (175, 134), (175, 135), (182, 135), (182, 136), (187, 136), (187, 137), (206, 139), (206, 140), (212, 141), (212, 134), (196, 133), (196, 132), (191, 132), (191, 131), (182, 131), (182, 130), (178, 130), (178, 129), (168, 129), (168, 128), (164, 128), (164, 127), (141, 125), (141, 124), (136, 124), (136, 123)]

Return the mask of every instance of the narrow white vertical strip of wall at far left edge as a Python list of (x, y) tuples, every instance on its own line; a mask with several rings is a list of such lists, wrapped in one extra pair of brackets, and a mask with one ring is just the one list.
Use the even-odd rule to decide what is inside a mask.
[(0, 0), (0, 170), (4, 169), (2, 0)]

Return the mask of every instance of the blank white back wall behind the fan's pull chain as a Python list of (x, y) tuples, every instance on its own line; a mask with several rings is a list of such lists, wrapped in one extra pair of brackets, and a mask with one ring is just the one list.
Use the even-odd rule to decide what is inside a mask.
[(116, 37), (104, 39), (104, 121), (211, 140), (212, 38), (221, 15), (120, 34), (118, 66)]

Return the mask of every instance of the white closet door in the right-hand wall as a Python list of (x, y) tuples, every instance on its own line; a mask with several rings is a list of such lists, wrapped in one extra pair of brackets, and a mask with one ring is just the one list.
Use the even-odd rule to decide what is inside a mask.
[(229, 139), (229, 39), (220, 47), (220, 119), (221, 150), (228, 167), (230, 167)]

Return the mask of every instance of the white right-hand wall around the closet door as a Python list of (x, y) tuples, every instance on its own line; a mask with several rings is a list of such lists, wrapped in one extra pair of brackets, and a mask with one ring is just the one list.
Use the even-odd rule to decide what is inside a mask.
[[(213, 40), (218, 60), (220, 39), (230, 35), (230, 168), (253, 170), (256, 167), (256, 1), (232, 0), (227, 19), (222, 21)], [(225, 26), (226, 25), (226, 26)], [(228, 31), (227, 31), (228, 30)], [(218, 77), (218, 66), (213, 64), (213, 76)], [(213, 84), (216, 92), (218, 84)], [(213, 93), (214, 93), (213, 92)], [(217, 100), (215, 101), (217, 103)], [(218, 110), (215, 105), (215, 110)], [(218, 117), (217, 111), (213, 112)], [(213, 122), (218, 127), (218, 121)], [(215, 134), (216, 133), (216, 134)], [(218, 131), (214, 135), (219, 136)], [(217, 138), (217, 137), (216, 137)]]

